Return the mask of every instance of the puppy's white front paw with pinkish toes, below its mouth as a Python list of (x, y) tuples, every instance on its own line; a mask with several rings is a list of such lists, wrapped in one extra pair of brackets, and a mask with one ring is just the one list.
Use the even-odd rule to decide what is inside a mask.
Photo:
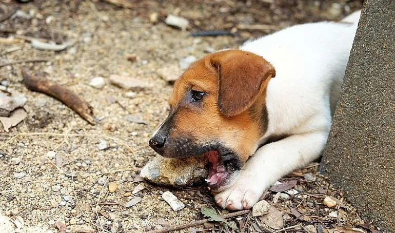
[(229, 210), (249, 209), (262, 196), (263, 190), (258, 184), (240, 181), (215, 195), (216, 204)]

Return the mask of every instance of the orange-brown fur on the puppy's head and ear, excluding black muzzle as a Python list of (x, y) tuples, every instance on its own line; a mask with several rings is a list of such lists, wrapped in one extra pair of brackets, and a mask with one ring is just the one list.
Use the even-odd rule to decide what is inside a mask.
[[(274, 75), (262, 57), (241, 50), (216, 52), (196, 61), (174, 84), (169, 138), (188, 135), (195, 144), (220, 140), (245, 162), (266, 131), (265, 93)], [(201, 103), (185, 100), (190, 90), (206, 93)]]

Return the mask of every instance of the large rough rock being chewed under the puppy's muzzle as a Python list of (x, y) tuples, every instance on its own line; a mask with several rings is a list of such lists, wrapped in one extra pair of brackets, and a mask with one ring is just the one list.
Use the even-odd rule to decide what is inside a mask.
[(205, 157), (167, 159), (156, 157), (141, 170), (140, 176), (160, 185), (189, 186), (207, 178)]

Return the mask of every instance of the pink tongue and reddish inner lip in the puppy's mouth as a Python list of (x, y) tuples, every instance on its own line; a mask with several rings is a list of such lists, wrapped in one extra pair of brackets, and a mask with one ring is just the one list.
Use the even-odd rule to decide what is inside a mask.
[(210, 162), (210, 170), (207, 181), (210, 187), (216, 188), (221, 186), (221, 184), (229, 177), (229, 170), (225, 166), (224, 161), (220, 158), (218, 150), (210, 150), (204, 153)]

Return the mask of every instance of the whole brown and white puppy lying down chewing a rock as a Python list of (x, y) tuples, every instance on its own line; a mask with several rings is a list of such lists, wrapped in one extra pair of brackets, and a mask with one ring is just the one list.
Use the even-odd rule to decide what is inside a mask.
[(251, 208), (274, 181), (320, 156), (359, 15), (293, 26), (194, 62), (149, 145), (169, 158), (205, 154), (216, 203)]

